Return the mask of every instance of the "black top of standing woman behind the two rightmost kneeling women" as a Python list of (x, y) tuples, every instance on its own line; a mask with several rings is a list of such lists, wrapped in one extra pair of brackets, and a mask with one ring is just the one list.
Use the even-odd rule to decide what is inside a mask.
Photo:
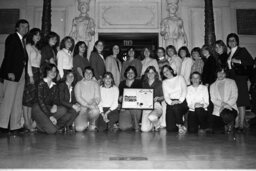
[(208, 59), (204, 62), (204, 68), (202, 73), (202, 82), (203, 84), (211, 85), (216, 81), (217, 78), (217, 61), (213, 56), (209, 56)]

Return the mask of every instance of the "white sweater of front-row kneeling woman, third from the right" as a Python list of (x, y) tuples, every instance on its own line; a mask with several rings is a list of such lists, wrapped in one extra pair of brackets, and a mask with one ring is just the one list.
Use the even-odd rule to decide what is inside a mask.
[(187, 85), (183, 76), (176, 76), (166, 79), (162, 83), (164, 99), (167, 104), (171, 105), (171, 99), (178, 99), (183, 102), (187, 95)]

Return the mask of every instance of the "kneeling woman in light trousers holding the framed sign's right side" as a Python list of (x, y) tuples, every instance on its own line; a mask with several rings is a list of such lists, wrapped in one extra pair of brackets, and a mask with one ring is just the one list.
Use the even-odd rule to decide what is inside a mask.
[(158, 72), (154, 66), (149, 66), (146, 69), (142, 87), (154, 90), (154, 109), (143, 110), (141, 131), (148, 132), (153, 129), (157, 131), (160, 128), (159, 118), (163, 113), (161, 102), (164, 100), (164, 97), (162, 82), (159, 80)]

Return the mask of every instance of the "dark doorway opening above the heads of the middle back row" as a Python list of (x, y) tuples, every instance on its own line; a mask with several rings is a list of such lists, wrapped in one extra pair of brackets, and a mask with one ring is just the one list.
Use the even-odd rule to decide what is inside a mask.
[(99, 33), (99, 40), (105, 43), (106, 57), (112, 54), (113, 45), (119, 45), (121, 50), (119, 58), (122, 61), (131, 46), (135, 48), (137, 58), (140, 58), (143, 48), (147, 47), (154, 53), (158, 47), (158, 33)]

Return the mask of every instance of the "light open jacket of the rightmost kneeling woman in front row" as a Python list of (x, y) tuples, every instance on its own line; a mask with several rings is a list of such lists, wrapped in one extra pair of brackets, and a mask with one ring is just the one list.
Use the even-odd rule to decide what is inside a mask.
[(229, 104), (233, 109), (238, 111), (236, 101), (238, 98), (238, 90), (236, 82), (232, 79), (225, 78), (224, 83), (224, 99), (221, 99), (221, 95), (218, 89), (217, 81), (215, 81), (210, 87), (211, 101), (214, 105), (213, 115), (220, 116), (220, 107), (222, 101)]

